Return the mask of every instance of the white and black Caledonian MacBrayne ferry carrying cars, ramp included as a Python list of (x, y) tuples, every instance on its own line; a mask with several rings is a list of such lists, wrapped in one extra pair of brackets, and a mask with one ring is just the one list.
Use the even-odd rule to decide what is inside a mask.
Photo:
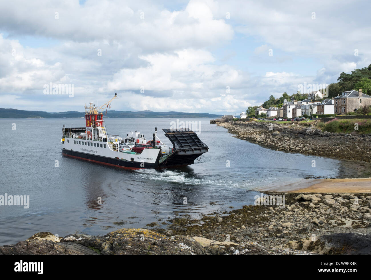
[[(85, 126), (65, 127), (63, 124), (63, 156), (124, 169), (163, 169), (193, 164), (194, 160), (201, 159), (201, 155), (209, 150), (197, 134), (189, 129), (162, 129), (173, 144), (172, 148), (157, 137), (157, 128), (152, 134), (152, 140), (147, 142), (144, 135), (137, 131), (124, 138), (108, 134), (103, 111), (105, 109), (107, 113), (116, 97), (117, 93), (100, 107), (95, 107), (92, 103), (89, 106), (85, 104)], [(145, 148), (141, 153), (133, 149), (124, 151), (120, 149), (120, 144), (123, 143), (134, 143), (137, 147)]]

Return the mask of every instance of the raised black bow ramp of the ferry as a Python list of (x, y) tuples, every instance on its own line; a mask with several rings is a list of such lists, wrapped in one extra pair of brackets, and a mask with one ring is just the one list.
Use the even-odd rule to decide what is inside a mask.
[(162, 129), (173, 143), (174, 151), (161, 157), (159, 168), (193, 164), (197, 157), (209, 151), (209, 147), (189, 129)]

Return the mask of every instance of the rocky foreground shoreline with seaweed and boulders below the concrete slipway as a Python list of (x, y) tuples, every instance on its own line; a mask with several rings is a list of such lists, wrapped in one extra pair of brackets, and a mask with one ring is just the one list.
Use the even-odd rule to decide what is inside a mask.
[[(105, 236), (37, 233), (0, 254), (371, 254), (371, 195), (265, 193), (285, 206), (244, 206), (168, 229), (119, 229)], [(265, 200), (269, 201), (269, 200)]]

